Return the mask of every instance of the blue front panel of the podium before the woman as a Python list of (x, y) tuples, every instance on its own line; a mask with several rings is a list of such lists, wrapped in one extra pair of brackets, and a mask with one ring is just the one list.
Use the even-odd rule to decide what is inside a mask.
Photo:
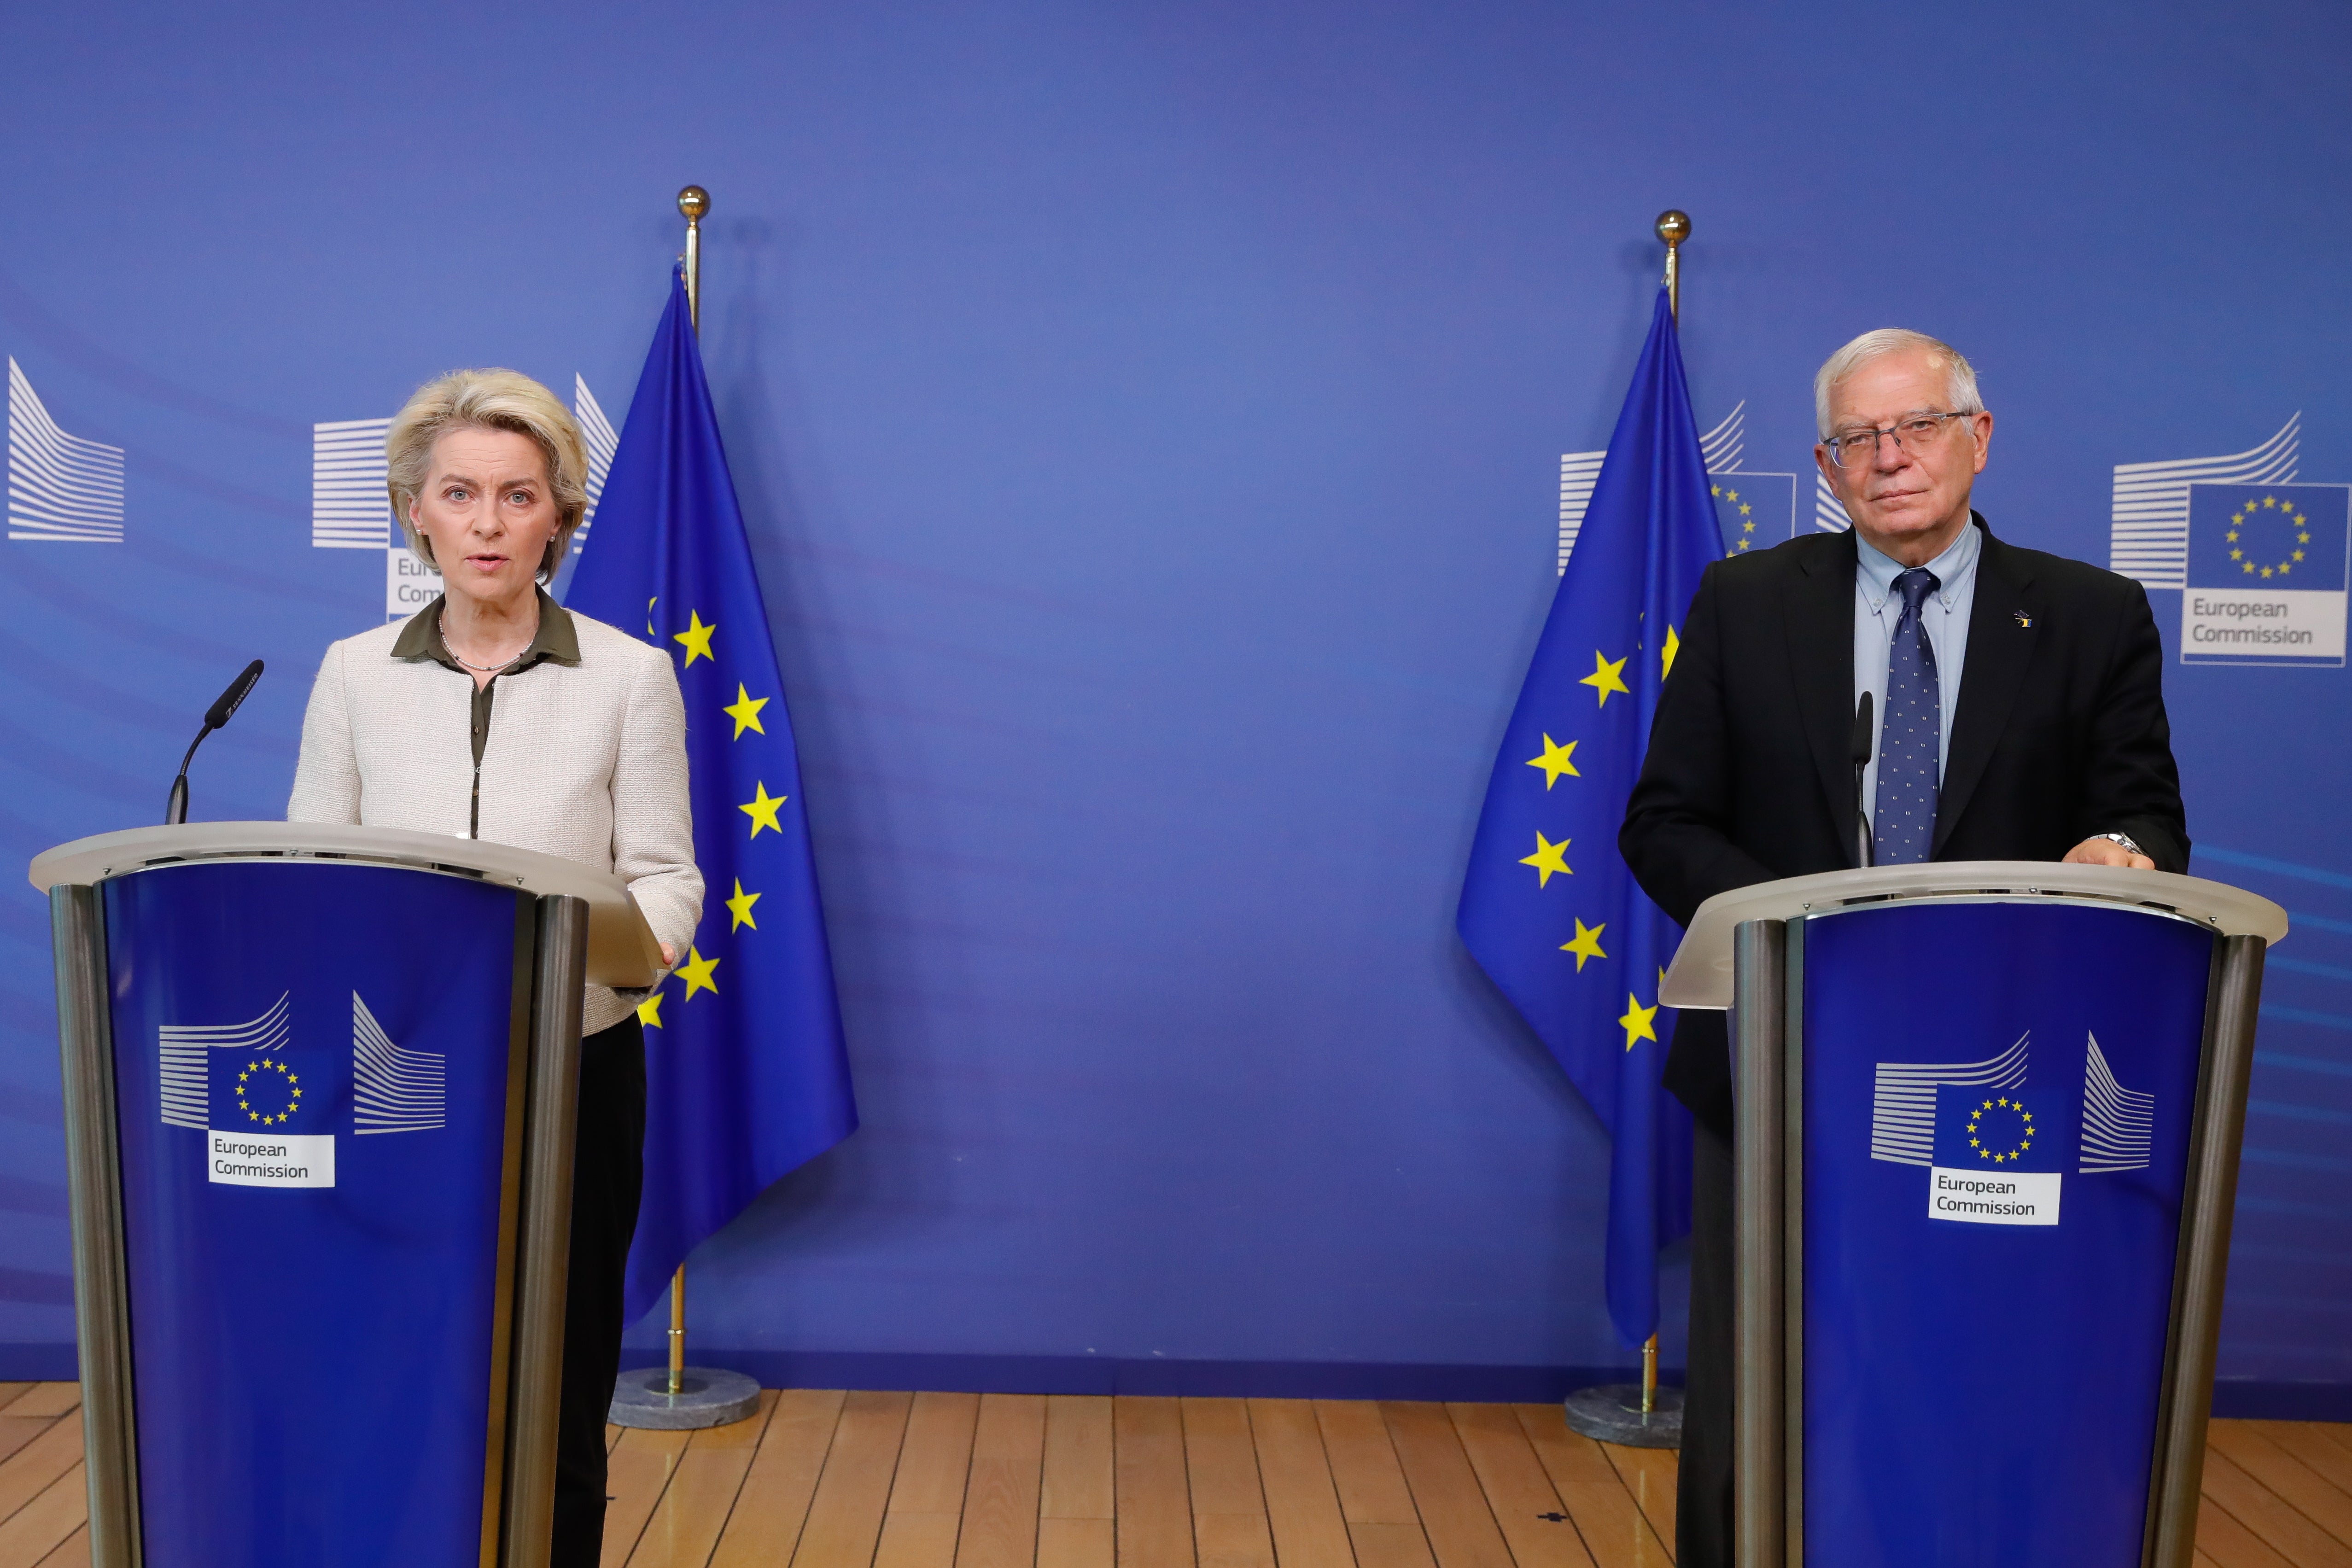
[(287, 860), (103, 889), (148, 1568), (489, 1561), (520, 896)]

